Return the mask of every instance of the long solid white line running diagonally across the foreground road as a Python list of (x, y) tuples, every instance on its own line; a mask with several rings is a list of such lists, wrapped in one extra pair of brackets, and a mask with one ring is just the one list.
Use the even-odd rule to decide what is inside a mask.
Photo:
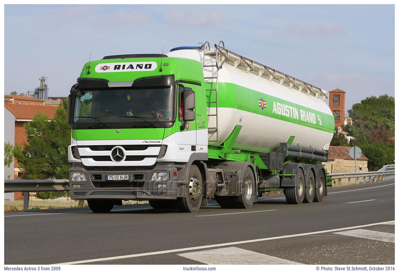
[(238, 241), (238, 242), (229, 242), (229, 243), (222, 243), (222, 244), (213, 244), (213, 245), (206, 245), (206, 246), (195, 246), (195, 247), (169, 249), (169, 250), (161, 250), (161, 251), (154, 251), (154, 252), (137, 253), (137, 254), (130, 254), (130, 255), (122, 255), (122, 256), (113, 256), (113, 257), (105, 257), (105, 258), (98, 258), (98, 259), (90, 259), (90, 260), (70, 261), (70, 262), (67, 262), (67, 263), (58, 263), (58, 264), (59, 265), (73, 265), (73, 264), (78, 264), (78, 263), (93, 263), (93, 262), (96, 262), (96, 261), (110, 261), (110, 260), (117, 260), (117, 259), (126, 259), (126, 258), (134, 258), (134, 257), (165, 254), (165, 253), (190, 251), (190, 250), (212, 248), (212, 247), (233, 246), (233, 245), (239, 245), (239, 244), (248, 244), (248, 243), (262, 242), (262, 241), (269, 241), (269, 240), (276, 240), (276, 239), (283, 239), (283, 238), (292, 238), (292, 237), (312, 235), (312, 234), (336, 232), (336, 231), (340, 231), (340, 230), (351, 230), (351, 229), (354, 229), (354, 228), (364, 228), (364, 227), (367, 227), (367, 226), (377, 226), (377, 225), (383, 225), (383, 224), (391, 223), (391, 222), (392, 222), (392, 220), (386, 221), (386, 222), (379, 222), (379, 223), (361, 225), (361, 226), (350, 226), (350, 227), (347, 227), (347, 228), (335, 228), (335, 229), (332, 229), (332, 230), (320, 230), (320, 231), (314, 231), (314, 232), (306, 232), (306, 233), (291, 234), (291, 235), (276, 236), (276, 237), (261, 238), (261, 239), (246, 240), (246, 241)]

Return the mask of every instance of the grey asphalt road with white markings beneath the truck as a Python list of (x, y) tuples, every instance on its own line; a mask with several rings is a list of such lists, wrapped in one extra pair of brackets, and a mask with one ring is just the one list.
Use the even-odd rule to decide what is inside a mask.
[(249, 210), (5, 212), (4, 263), (394, 264), (394, 183), (329, 189), (311, 204), (273, 194)]

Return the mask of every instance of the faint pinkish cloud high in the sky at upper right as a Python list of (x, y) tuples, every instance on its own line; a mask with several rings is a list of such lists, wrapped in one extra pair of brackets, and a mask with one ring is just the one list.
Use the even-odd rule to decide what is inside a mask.
[(290, 24), (286, 27), (286, 32), (296, 35), (335, 35), (345, 33), (344, 27), (335, 23), (324, 22), (322, 24), (308, 24), (299, 26)]

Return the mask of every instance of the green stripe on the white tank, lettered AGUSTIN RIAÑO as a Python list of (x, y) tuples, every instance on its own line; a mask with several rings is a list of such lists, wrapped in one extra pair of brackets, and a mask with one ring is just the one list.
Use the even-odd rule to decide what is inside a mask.
[[(208, 85), (211, 86), (211, 84)], [(207, 89), (211, 88), (207, 87)], [(207, 99), (208, 101), (215, 101), (215, 92), (207, 91)], [(264, 106), (263, 102), (265, 102), (266, 107), (262, 107)], [(235, 108), (334, 133), (334, 117), (330, 114), (229, 82), (218, 83), (217, 104), (218, 107)], [(209, 104), (209, 107), (214, 108), (215, 105)]]

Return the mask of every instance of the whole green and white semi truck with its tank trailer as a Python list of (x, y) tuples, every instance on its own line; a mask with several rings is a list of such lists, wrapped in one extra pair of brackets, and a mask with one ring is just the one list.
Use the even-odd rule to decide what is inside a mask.
[(327, 195), (334, 118), (327, 92), (225, 49), (106, 56), (69, 95), (70, 195), (93, 212), (122, 200), (195, 212)]

